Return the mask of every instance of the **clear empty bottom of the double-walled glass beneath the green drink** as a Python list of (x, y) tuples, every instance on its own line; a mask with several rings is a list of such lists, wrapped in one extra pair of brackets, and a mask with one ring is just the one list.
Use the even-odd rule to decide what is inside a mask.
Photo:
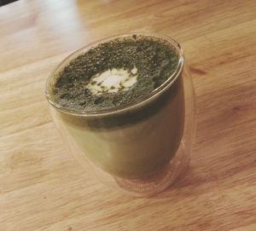
[(84, 153), (82, 153), (79, 148), (75, 147), (73, 142), (69, 141), (69, 147), (71, 147), (73, 155), (79, 160), (80, 164), (83, 165), (86, 170), (90, 170), (94, 176), (97, 176), (100, 182), (113, 189), (123, 191), (124, 193), (136, 197), (152, 197), (170, 187), (177, 179), (177, 176), (179, 176), (183, 170), (187, 169), (189, 165), (189, 153), (186, 152), (184, 142), (181, 141), (176, 155), (166, 166), (165, 170), (148, 178), (130, 180), (112, 176), (92, 164), (89, 159), (84, 158)]

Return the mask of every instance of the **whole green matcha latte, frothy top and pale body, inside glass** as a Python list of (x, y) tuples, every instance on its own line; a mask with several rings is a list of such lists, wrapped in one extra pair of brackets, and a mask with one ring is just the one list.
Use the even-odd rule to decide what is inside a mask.
[(113, 176), (164, 170), (183, 136), (183, 80), (165, 39), (128, 35), (81, 49), (57, 68), (50, 102), (84, 156)]

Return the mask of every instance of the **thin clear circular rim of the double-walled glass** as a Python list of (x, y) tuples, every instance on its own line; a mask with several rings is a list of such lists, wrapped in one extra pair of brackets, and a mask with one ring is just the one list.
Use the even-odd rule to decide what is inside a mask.
[[(125, 104), (120, 107), (113, 107), (109, 109), (102, 109), (102, 110), (91, 110), (86, 111), (85, 109), (71, 109), (68, 107), (63, 107), (60, 104), (58, 104), (56, 101), (54, 101), (52, 95), (50, 94), (50, 84), (53, 78), (55, 77), (55, 74), (60, 72), (65, 64), (68, 64), (70, 61), (75, 59), (77, 56), (86, 53), (89, 49), (96, 47), (100, 43), (106, 43), (108, 41), (111, 41), (115, 38), (125, 38), (125, 37), (132, 37), (134, 35), (137, 36), (145, 36), (149, 38), (159, 38), (161, 40), (165, 40), (167, 43), (170, 43), (171, 46), (175, 49), (178, 57), (177, 61), (177, 68), (172, 73), (172, 75), (166, 79), (166, 81), (161, 84), (158, 88), (154, 89), (150, 94), (139, 98), (138, 101), (134, 101), (128, 104)], [(101, 116), (101, 115), (108, 115), (108, 114), (116, 114), (116, 113), (122, 113), (128, 110), (131, 110), (133, 108), (137, 108), (143, 104), (146, 104), (148, 101), (152, 101), (155, 97), (161, 94), (164, 90), (169, 88), (177, 79), (177, 77), (180, 75), (180, 73), (183, 71), (184, 66), (184, 57), (183, 57), (183, 49), (181, 48), (180, 44), (177, 43), (177, 41), (169, 36), (166, 35), (160, 35), (160, 34), (154, 34), (154, 33), (144, 33), (144, 32), (134, 32), (134, 33), (126, 33), (126, 34), (119, 34), (119, 35), (113, 35), (108, 38), (102, 38), (100, 40), (97, 40), (93, 43), (88, 43), (84, 47), (77, 49), (73, 51), (70, 55), (67, 55), (67, 57), (61, 61), (50, 73), (49, 77), (46, 81), (45, 91), (44, 94), (49, 101), (49, 104), (53, 107), (55, 107), (56, 110), (61, 111), (62, 113), (72, 114), (72, 115), (78, 115), (78, 116), (84, 116), (84, 117), (95, 117), (95, 116)]]

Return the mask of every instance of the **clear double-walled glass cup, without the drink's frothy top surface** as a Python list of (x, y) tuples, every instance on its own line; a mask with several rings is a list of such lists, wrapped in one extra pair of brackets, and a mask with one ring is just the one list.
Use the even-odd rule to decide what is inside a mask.
[(50, 73), (45, 95), (57, 129), (73, 156), (92, 175), (125, 193), (150, 197), (168, 188), (189, 165), (195, 136), (195, 92), (183, 51), (172, 38), (137, 33), (167, 42), (175, 51), (177, 69), (157, 89), (136, 103), (100, 111), (72, 110), (53, 97), (57, 73), (99, 43), (69, 55)]

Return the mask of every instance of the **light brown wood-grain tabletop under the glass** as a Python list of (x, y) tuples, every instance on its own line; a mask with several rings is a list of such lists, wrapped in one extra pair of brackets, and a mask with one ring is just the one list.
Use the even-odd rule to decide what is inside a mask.
[[(195, 83), (187, 174), (152, 199), (97, 182), (44, 97), (73, 50), (125, 32), (172, 36)], [(0, 230), (256, 230), (256, 2), (18, 1), (0, 8)]]

